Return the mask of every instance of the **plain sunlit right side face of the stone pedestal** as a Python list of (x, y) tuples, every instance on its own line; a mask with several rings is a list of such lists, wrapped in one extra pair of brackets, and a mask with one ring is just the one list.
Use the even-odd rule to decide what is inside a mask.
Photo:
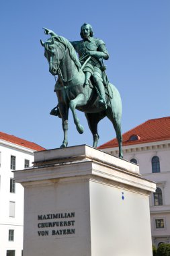
[(152, 255), (148, 196), (93, 181), (90, 186), (91, 255)]

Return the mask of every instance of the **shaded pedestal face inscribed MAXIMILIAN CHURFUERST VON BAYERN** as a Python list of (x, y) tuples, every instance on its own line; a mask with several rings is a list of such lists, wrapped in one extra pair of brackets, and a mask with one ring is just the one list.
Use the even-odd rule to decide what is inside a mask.
[[(25, 187), (24, 255), (90, 255), (88, 187), (87, 181), (79, 178), (67, 183), (61, 179), (40, 181)], [(40, 215), (71, 212), (75, 214), (74, 218), (38, 220)], [(38, 228), (38, 223), (68, 220), (73, 220), (74, 223), (71, 226)], [(52, 232), (52, 230), (56, 232), (56, 230), (68, 230), (68, 228), (74, 229), (75, 234), (57, 236)], [(44, 231), (48, 234), (44, 235)]]

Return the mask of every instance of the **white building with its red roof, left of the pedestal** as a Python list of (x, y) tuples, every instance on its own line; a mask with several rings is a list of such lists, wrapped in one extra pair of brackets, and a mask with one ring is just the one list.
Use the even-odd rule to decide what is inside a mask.
[(32, 166), (36, 143), (0, 132), (0, 255), (22, 256), (24, 189), (13, 171)]

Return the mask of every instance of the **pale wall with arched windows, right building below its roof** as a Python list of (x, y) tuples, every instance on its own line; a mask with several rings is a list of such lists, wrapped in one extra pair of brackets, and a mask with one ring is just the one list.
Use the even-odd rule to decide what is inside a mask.
[[(118, 148), (108, 148), (103, 151), (115, 156), (118, 154)], [(161, 172), (152, 173), (153, 156), (159, 157)], [(163, 194), (163, 205), (158, 206), (154, 205), (153, 193), (150, 196), (153, 244), (157, 246), (160, 242), (170, 243), (170, 141), (124, 147), (124, 159), (130, 161), (132, 158), (137, 160), (142, 177), (155, 181)], [(165, 228), (156, 228), (155, 219), (164, 219)]]

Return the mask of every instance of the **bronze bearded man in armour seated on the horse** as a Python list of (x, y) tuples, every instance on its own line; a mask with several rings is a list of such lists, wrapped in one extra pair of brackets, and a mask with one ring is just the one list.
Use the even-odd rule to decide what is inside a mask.
[(92, 75), (93, 82), (97, 88), (97, 94), (99, 94), (99, 104), (103, 108), (107, 108), (105, 101), (105, 88), (103, 85), (103, 65), (100, 59), (109, 59), (108, 51), (105, 47), (103, 40), (93, 37), (93, 29), (90, 24), (83, 24), (81, 26), (81, 41), (71, 42), (75, 51), (79, 55), (81, 64), (90, 56), (91, 58), (85, 64), (83, 71), (85, 72), (85, 86), (89, 85), (89, 79)]

